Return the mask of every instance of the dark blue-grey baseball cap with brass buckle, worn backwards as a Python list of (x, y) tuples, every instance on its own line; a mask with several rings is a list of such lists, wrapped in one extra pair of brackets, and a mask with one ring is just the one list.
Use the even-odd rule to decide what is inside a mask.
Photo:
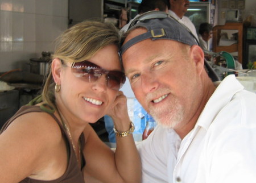
[[(148, 11), (147, 13), (141, 14), (133, 20), (125, 34), (129, 34), (130, 31), (138, 27), (146, 28), (147, 32), (135, 36), (122, 45), (121, 49), (119, 50), (119, 56), (121, 57), (121, 60), (123, 53), (128, 48), (145, 39), (168, 39), (179, 41), (180, 43), (184, 43), (190, 46), (200, 45), (192, 32), (186, 26), (184, 26), (184, 24), (179, 23), (175, 18), (172, 18), (171, 15), (163, 11)], [(220, 78), (217, 76), (217, 74), (206, 60), (205, 69), (207, 70), (208, 75), (212, 81), (220, 80)]]

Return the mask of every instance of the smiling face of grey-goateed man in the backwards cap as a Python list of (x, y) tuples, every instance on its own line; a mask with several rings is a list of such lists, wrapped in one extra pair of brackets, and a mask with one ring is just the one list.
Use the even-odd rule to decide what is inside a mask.
[[(126, 41), (143, 32), (132, 31)], [(177, 41), (146, 39), (122, 55), (135, 97), (164, 127), (181, 127), (195, 113), (199, 76), (189, 54), (190, 47)]]

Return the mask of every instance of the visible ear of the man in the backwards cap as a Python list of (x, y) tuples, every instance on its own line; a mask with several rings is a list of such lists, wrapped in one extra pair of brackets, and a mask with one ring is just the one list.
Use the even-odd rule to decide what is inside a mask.
[(199, 45), (192, 45), (191, 58), (195, 63), (197, 73), (201, 74), (204, 69), (204, 52)]

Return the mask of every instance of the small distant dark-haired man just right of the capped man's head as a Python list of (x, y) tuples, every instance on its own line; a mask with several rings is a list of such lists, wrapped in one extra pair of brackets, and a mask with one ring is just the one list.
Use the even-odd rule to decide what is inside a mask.
[(203, 50), (209, 51), (208, 41), (212, 38), (212, 25), (205, 22), (201, 23), (199, 27), (199, 43)]

